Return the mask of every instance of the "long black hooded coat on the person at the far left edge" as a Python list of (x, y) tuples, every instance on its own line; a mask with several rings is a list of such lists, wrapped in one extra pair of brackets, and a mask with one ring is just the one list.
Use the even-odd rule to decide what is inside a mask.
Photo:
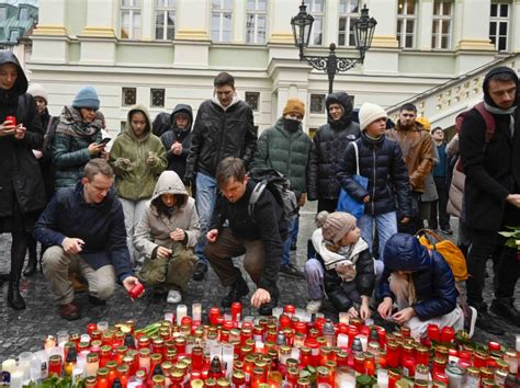
[(12, 216), (15, 208), (32, 213), (46, 205), (38, 161), (32, 151), (42, 148), (44, 129), (36, 103), (26, 93), (27, 79), (22, 67), (14, 54), (0, 50), (0, 65), (5, 64), (18, 68), (18, 78), (11, 89), (0, 89), (0, 123), (7, 116), (15, 116), (18, 124), (25, 126), (26, 133), (20, 140), (14, 136), (0, 137), (0, 217)]

